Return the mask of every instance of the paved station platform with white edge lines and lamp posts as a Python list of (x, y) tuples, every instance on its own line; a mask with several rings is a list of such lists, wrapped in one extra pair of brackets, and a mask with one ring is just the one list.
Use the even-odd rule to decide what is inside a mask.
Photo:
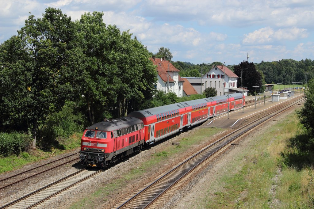
[[(283, 102), (288, 102), (290, 99), (295, 99), (299, 97), (303, 97), (303, 94), (297, 94), (288, 99), (280, 99), (279, 102), (272, 102), (271, 99), (266, 99), (265, 105), (264, 105), (264, 100), (258, 101), (260, 103), (256, 104), (256, 109), (255, 109), (255, 105), (251, 105), (251, 106), (244, 107), (243, 112), (242, 112), (242, 108), (238, 110), (233, 110), (229, 112), (229, 119), (228, 119), (228, 114), (225, 113), (223, 115), (219, 115), (219, 116), (216, 116), (214, 118), (207, 120), (205, 123), (203, 123), (199, 127), (201, 128), (202, 127), (203, 128), (217, 127), (217, 128), (235, 129), (235, 128), (238, 128), (244, 120), (249, 119), (253, 117), (254, 115), (267, 111), (271, 108), (274, 108), (275, 106), (282, 104)], [(253, 96), (252, 100), (254, 100), (254, 98), (255, 97)], [(246, 97), (246, 101), (248, 101), (248, 99), (251, 99), (251, 98)]]

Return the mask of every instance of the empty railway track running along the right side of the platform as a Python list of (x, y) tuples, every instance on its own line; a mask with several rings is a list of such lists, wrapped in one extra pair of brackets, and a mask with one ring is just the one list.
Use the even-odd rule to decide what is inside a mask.
[[(302, 100), (304, 100), (304, 98), (292, 101), (284, 110), (290, 109), (292, 106)], [(116, 205), (116, 208), (131, 209), (157, 207), (161, 202), (165, 201), (178, 187), (189, 180), (199, 170), (203, 169), (219, 153), (223, 152), (227, 147), (229, 147), (232, 142), (240, 139), (241, 136), (245, 135), (252, 129), (261, 125), (265, 121), (268, 121), (274, 116), (279, 115), (284, 110), (278, 108), (271, 113), (267, 113), (263, 117), (245, 126), (242, 126), (236, 131), (231, 132), (225, 137), (203, 148), (201, 151), (184, 160), (184, 162), (179, 163), (153, 182), (150, 182), (136, 194), (121, 201), (118, 205)]]

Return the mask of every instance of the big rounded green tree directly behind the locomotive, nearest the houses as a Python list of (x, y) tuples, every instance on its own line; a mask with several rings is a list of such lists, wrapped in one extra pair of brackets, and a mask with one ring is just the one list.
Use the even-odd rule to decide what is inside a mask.
[(106, 111), (126, 116), (135, 101), (152, 97), (157, 71), (149, 51), (129, 31), (106, 26), (103, 13), (84, 13), (79, 22), (79, 42), (83, 48), (84, 68), (80, 68), (81, 90), (91, 124)]

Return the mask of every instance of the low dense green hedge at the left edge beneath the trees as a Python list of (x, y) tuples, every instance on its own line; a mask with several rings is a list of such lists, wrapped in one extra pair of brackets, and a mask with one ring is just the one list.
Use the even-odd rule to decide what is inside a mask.
[(0, 133), (0, 155), (19, 155), (19, 153), (25, 151), (30, 146), (32, 140), (31, 136), (27, 134), (17, 132)]

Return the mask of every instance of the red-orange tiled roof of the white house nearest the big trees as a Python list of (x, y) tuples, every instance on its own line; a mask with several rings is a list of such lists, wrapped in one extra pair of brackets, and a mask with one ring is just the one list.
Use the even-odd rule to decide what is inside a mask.
[[(180, 72), (180, 70), (176, 69), (171, 62), (169, 61), (166, 61), (166, 60), (163, 60), (162, 58), (152, 58), (150, 57), (149, 58), (153, 63), (154, 65), (157, 66), (157, 71), (158, 71), (158, 74), (160, 76), (160, 78), (167, 82), (168, 81), (168, 66), (169, 66), (169, 72)], [(180, 81), (180, 76), (179, 76), (179, 81)], [(175, 82), (171, 76), (169, 76), (169, 82)]]

